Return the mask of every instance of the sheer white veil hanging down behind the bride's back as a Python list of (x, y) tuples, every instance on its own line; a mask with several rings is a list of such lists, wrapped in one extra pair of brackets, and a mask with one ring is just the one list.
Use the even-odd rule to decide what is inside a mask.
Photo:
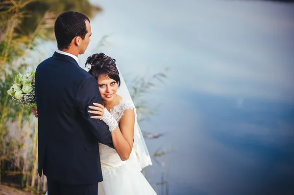
[(134, 111), (135, 111), (135, 127), (134, 127), (134, 144), (133, 144), (133, 152), (135, 153), (136, 156), (136, 160), (137, 163), (139, 165), (139, 167), (142, 169), (144, 169), (145, 167), (152, 165), (151, 162), (151, 158), (149, 155), (149, 152), (147, 150), (145, 141), (144, 141), (144, 137), (142, 135), (141, 129), (139, 127), (138, 121), (137, 121), (137, 112), (136, 112), (136, 108), (134, 105), (134, 102), (131, 98), (131, 95), (126, 87), (126, 84), (124, 82), (122, 73), (118, 67), (118, 65), (116, 66), (117, 69), (119, 70), (120, 73), (120, 79), (121, 79), (121, 86), (118, 89), (118, 94), (123, 97), (123, 99), (129, 101), (130, 103), (132, 103), (133, 107), (134, 107)]

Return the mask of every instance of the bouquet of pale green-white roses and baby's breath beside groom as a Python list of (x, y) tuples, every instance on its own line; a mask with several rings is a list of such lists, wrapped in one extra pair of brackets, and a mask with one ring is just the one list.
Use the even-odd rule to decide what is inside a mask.
[(35, 71), (28, 68), (25, 74), (19, 73), (7, 91), (21, 107), (37, 107), (35, 95)]

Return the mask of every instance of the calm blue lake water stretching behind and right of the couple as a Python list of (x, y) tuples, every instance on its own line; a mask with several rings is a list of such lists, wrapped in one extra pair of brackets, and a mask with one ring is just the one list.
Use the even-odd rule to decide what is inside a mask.
[[(143, 96), (141, 129), (166, 150), (170, 195), (294, 194), (294, 4), (247, 0), (92, 0), (92, 53), (117, 60), (129, 86), (166, 72)], [(104, 45), (97, 48), (107, 35)], [(55, 43), (50, 43), (54, 51)], [(147, 178), (157, 189), (161, 168)]]

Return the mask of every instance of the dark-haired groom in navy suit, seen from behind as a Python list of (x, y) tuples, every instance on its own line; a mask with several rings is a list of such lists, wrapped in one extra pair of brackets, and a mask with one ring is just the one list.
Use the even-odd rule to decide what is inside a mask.
[(78, 65), (91, 36), (90, 20), (65, 12), (54, 25), (58, 50), (36, 69), (39, 175), (49, 195), (97, 195), (102, 181), (98, 142), (114, 148), (101, 120), (89, 106), (102, 104), (96, 79)]

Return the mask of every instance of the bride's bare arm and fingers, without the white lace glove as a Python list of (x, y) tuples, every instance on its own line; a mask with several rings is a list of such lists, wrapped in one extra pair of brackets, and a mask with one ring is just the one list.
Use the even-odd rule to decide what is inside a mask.
[[(90, 113), (100, 114), (99, 116), (92, 116), (92, 118), (101, 119), (104, 107), (100, 104), (94, 104), (96, 107), (91, 107)], [(134, 138), (135, 112), (133, 109), (126, 109), (123, 111), (123, 116), (120, 119), (119, 126), (116, 126), (111, 132), (112, 142), (115, 150), (123, 161), (127, 160), (132, 152), (133, 138)]]

